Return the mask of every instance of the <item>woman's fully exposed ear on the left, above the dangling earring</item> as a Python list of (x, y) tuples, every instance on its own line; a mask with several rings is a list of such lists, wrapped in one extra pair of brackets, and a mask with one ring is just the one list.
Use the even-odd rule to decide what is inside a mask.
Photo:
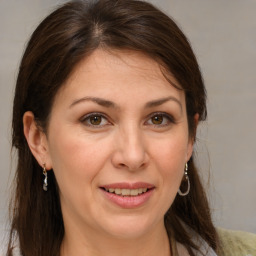
[(51, 169), (51, 160), (48, 150), (46, 134), (35, 121), (34, 114), (31, 111), (23, 115), (23, 131), (31, 153), (36, 158), (39, 165), (45, 165), (47, 170)]

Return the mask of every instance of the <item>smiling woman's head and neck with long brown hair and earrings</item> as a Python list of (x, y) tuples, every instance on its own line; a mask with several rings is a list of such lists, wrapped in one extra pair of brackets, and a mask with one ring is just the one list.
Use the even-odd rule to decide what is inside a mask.
[(7, 255), (225, 255), (193, 161), (205, 102), (186, 37), (152, 5), (50, 14), (17, 78)]

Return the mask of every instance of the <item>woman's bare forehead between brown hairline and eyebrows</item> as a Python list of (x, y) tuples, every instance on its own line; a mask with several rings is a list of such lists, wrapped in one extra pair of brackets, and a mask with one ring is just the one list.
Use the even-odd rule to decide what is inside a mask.
[(121, 97), (125, 92), (128, 98), (128, 91), (136, 91), (145, 97), (163, 97), (171, 93), (182, 98), (184, 92), (177, 87), (181, 88), (172, 74), (163, 73), (157, 61), (141, 52), (95, 50), (75, 67), (59, 95), (78, 97), (100, 93), (100, 96), (111, 98), (118, 94)]

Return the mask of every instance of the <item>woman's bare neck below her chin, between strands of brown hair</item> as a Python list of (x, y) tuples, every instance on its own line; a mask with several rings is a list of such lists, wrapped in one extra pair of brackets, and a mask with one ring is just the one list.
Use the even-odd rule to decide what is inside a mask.
[[(71, 230), (70, 230), (71, 231)], [(171, 256), (170, 243), (164, 224), (136, 238), (112, 237), (100, 232), (83, 233), (72, 229), (66, 233), (61, 246), (61, 256)]]

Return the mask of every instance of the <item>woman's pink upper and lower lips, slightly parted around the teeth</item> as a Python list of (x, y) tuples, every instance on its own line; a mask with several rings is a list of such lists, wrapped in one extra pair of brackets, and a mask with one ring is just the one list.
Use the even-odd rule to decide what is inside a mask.
[[(122, 183), (113, 183), (113, 184), (104, 185), (104, 186), (101, 186), (101, 188), (107, 200), (109, 200), (110, 202), (122, 208), (129, 209), (129, 208), (136, 208), (144, 205), (152, 196), (155, 186), (145, 182), (136, 182), (136, 183), (122, 182)], [(115, 188), (115, 189), (147, 188), (148, 190), (147, 192), (139, 194), (137, 196), (122, 196), (122, 195), (117, 195), (115, 193), (110, 193), (105, 190), (110, 188)]]

